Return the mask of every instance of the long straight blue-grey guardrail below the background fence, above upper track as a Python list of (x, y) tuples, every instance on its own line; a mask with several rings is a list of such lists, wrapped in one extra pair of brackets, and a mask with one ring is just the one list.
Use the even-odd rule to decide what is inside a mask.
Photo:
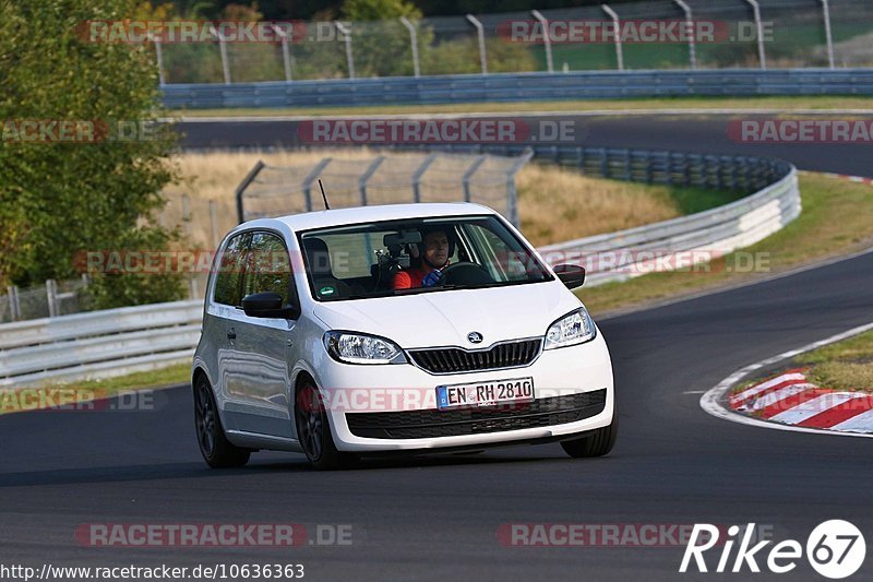
[(160, 87), (170, 109), (318, 107), (620, 97), (873, 95), (873, 69), (574, 71)]

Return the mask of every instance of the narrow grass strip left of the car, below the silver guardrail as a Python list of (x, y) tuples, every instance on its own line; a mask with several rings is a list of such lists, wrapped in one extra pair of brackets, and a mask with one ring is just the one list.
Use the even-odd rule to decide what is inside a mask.
[(83, 380), (13, 391), (0, 390), (0, 415), (53, 406), (75, 409), (76, 405), (122, 392), (178, 385), (188, 382), (190, 375), (190, 364), (177, 364), (104, 380)]

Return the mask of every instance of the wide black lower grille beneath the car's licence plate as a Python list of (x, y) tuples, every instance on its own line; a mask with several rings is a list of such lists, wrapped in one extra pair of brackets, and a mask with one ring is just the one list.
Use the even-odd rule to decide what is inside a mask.
[(352, 435), (371, 439), (426, 439), (481, 435), (575, 423), (603, 412), (606, 389), (511, 405), (388, 413), (346, 413)]

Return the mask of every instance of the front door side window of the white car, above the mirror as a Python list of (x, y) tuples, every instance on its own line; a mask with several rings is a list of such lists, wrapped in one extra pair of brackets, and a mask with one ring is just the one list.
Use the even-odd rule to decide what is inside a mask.
[(291, 263), (285, 242), (278, 236), (270, 233), (252, 235), (249, 252), (246, 254), (242, 296), (273, 292), (282, 295), (283, 304), (287, 305), (290, 288)]

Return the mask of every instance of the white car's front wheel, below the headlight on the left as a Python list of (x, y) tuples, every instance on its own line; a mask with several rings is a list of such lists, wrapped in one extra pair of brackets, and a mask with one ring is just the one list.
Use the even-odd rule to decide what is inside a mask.
[(297, 439), (312, 466), (332, 471), (354, 465), (358, 458), (337, 450), (331, 435), (331, 425), (315, 382), (306, 378), (295, 394), (295, 424)]

